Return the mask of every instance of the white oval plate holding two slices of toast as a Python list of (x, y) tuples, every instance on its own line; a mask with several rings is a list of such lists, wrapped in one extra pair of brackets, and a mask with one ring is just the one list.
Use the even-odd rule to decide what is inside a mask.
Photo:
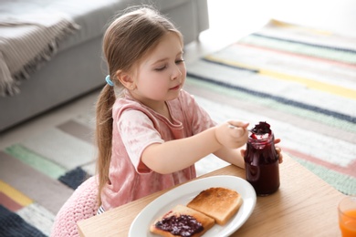
[(193, 180), (171, 191), (167, 191), (148, 204), (131, 223), (129, 237), (157, 236), (150, 232), (150, 225), (162, 214), (170, 211), (175, 205), (186, 205), (196, 195), (213, 187), (223, 187), (235, 190), (241, 194), (243, 204), (235, 216), (224, 226), (215, 224), (212, 229), (205, 232), (204, 237), (228, 236), (236, 232), (251, 215), (256, 205), (256, 192), (249, 182), (236, 176), (220, 175), (204, 179)]

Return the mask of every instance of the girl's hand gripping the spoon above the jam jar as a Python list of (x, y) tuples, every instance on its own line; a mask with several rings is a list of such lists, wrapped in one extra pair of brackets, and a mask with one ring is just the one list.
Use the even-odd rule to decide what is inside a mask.
[(225, 148), (240, 148), (247, 142), (247, 127), (246, 122), (230, 120), (215, 127), (215, 137)]

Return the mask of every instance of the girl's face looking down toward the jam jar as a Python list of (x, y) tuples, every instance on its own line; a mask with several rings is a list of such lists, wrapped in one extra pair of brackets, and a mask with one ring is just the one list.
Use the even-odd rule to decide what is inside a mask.
[(133, 98), (154, 109), (164, 101), (178, 97), (183, 88), (186, 69), (183, 61), (183, 46), (173, 33), (162, 37), (160, 43), (141, 60), (133, 78)]

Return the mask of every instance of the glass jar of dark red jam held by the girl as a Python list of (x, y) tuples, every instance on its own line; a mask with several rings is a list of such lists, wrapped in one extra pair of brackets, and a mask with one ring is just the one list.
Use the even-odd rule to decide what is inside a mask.
[(259, 196), (267, 196), (279, 188), (279, 159), (274, 140), (267, 122), (259, 122), (248, 136), (244, 157), (246, 180)]

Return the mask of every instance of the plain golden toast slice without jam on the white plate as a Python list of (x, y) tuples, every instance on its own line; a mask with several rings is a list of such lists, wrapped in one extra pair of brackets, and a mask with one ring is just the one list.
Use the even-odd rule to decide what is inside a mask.
[(217, 187), (201, 191), (187, 206), (214, 218), (216, 223), (225, 225), (242, 202), (241, 195), (236, 191)]

